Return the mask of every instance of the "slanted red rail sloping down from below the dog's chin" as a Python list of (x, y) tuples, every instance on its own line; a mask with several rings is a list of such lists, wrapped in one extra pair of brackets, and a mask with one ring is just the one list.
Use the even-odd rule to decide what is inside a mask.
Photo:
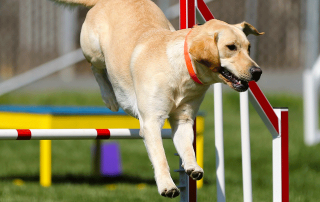
[(260, 90), (258, 84), (255, 81), (249, 82), (249, 88), (256, 98), (257, 102), (261, 106), (264, 113), (267, 115), (268, 119), (270, 120), (273, 127), (276, 129), (276, 131), (279, 133), (279, 123), (278, 123), (278, 117), (276, 113), (274, 112), (272, 106), (270, 105), (267, 98), (264, 96), (262, 91)]

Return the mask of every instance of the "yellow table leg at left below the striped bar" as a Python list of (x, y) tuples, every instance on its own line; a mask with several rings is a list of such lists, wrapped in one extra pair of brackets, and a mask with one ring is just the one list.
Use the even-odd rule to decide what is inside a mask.
[(51, 140), (40, 140), (40, 184), (51, 186)]

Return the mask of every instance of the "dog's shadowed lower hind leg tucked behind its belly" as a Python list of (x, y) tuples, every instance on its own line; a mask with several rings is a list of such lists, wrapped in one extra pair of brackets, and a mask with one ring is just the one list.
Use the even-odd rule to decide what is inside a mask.
[(114, 94), (112, 85), (108, 79), (107, 70), (106, 69), (99, 69), (97, 67), (91, 66), (92, 72), (96, 81), (99, 84), (100, 92), (102, 96), (102, 100), (104, 104), (111, 110), (111, 111), (118, 111), (119, 105)]

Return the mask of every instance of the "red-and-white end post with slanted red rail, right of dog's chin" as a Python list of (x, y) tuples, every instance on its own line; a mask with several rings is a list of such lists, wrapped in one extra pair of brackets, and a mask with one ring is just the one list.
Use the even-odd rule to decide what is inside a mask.
[(249, 83), (250, 102), (272, 135), (273, 201), (289, 202), (289, 111), (272, 108), (256, 82)]

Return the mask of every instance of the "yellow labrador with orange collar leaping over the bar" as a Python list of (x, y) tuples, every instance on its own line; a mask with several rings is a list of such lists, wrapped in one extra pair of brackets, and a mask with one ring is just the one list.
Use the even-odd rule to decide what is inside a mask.
[(246, 35), (263, 33), (246, 22), (219, 20), (175, 31), (151, 0), (55, 1), (91, 8), (81, 47), (103, 101), (112, 111), (121, 107), (139, 119), (159, 193), (178, 196), (161, 140), (164, 121), (171, 124), (186, 173), (201, 179), (203, 170), (192, 148), (193, 120), (211, 84), (245, 91), (249, 81), (259, 80), (262, 71), (249, 56)]

